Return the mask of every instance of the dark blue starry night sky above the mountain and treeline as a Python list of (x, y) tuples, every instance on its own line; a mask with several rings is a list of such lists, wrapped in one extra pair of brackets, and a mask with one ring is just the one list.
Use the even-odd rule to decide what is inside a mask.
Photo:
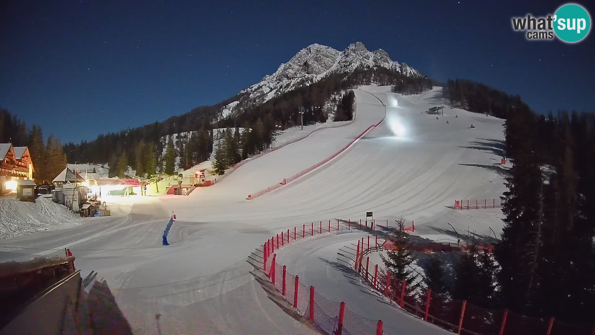
[(511, 28), (512, 16), (562, 1), (256, 3), (2, 1), (0, 107), (79, 142), (218, 103), (310, 44), (361, 41), (434, 79), (520, 94), (536, 111), (595, 110), (593, 33), (569, 45)]

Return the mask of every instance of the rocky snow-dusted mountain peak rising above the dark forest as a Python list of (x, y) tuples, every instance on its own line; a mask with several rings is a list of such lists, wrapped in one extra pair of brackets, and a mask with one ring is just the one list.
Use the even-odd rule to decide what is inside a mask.
[(368, 51), (362, 42), (350, 44), (343, 51), (330, 46), (311, 44), (301, 49), (287, 63), (281, 64), (272, 75), (262, 78), (261, 82), (240, 92), (248, 94), (251, 103), (264, 103), (275, 97), (291, 91), (301, 85), (310, 85), (331, 73), (352, 72), (358, 66), (386, 67), (408, 76), (419, 75), (411, 67), (402, 65), (390, 59), (383, 49)]

